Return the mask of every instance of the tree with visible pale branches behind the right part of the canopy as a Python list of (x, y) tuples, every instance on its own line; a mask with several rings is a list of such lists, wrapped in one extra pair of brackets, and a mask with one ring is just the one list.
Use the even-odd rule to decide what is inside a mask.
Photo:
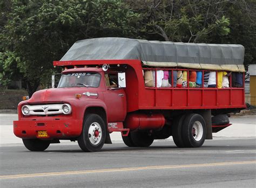
[[(255, 0), (127, 0), (143, 16), (146, 39), (242, 44), (255, 63)], [(141, 34), (141, 35), (142, 35)]]

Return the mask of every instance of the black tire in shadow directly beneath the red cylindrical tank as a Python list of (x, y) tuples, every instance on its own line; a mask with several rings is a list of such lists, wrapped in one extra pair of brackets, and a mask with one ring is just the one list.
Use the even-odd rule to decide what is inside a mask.
[(154, 137), (146, 132), (137, 131), (131, 133), (131, 141), (135, 147), (149, 147), (153, 143)]

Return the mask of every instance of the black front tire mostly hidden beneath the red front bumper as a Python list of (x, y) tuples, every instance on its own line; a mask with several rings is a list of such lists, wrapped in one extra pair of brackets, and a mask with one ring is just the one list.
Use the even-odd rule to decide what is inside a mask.
[(23, 144), (25, 145), (26, 149), (30, 151), (44, 151), (46, 150), (51, 141), (43, 141), (37, 138), (35, 139), (22, 139)]

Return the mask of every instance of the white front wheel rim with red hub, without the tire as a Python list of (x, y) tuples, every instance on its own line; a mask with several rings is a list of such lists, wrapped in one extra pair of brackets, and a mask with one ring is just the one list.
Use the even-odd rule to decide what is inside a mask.
[(100, 140), (102, 140), (102, 128), (100, 127), (99, 123), (93, 122), (88, 131), (88, 137), (93, 145), (97, 145)]

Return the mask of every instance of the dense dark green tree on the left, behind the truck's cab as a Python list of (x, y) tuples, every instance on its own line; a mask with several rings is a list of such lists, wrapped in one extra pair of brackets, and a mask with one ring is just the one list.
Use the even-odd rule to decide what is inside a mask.
[(121, 1), (11, 1), (0, 48), (15, 55), (31, 96), (42, 78), (50, 78), (59, 60), (81, 39), (137, 36), (139, 14)]

